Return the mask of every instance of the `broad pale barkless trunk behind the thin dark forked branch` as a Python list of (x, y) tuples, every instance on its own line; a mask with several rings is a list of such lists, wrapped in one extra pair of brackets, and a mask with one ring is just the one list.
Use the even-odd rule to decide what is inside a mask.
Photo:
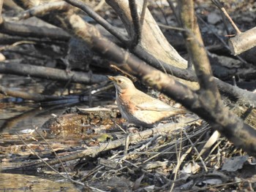
[[(129, 11), (128, 0), (106, 2), (116, 10), (116, 13), (119, 15), (127, 29), (129, 37), (134, 37), (135, 29), (132, 25), (132, 17)], [(138, 1), (137, 4), (139, 12), (141, 12), (143, 8), (143, 1)], [(181, 58), (176, 50), (169, 44), (169, 42), (167, 42), (148, 9), (146, 9), (145, 20), (141, 31), (141, 41), (137, 47), (138, 50), (146, 50), (151, 55), (154, 55), (154, 57), (159, 61), (172, 64), (173, 66), (177, 66), (181, 69), (187, 68), (187, 61), (184, 60), (184, 58)], [(134, 52), (137, 53), (138, 50), (135, 49)]]

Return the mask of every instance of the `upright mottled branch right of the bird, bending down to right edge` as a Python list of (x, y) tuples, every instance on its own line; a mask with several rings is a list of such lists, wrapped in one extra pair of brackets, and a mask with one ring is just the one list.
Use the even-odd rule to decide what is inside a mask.
[[(256, 130), (252, 127), (249, 128), (240, 118), (237, 118), (236, 115), (227, 110), (222, 103), (217, 85), (214, 82), (207, 53), (203, 46), (203, 39), (200, 36), (193, 1), (179, 1), (178, 5), (180, 7), (181, 21), (184, 28), (187, 29), (184, 37), (187, 39), (188, 52), (192, 58), (200, 83), (197, 101), (208, 113), (204, 119), (208, 120), (213, 128), (224, 134), (235, 145), (243, 146), (248, 152), (255, 153), (256, 147), (253, 146), (256, 146), (256, 143), (253, 140), (256, 137)], [(198, 112), (197, 114), (199, 115)]]

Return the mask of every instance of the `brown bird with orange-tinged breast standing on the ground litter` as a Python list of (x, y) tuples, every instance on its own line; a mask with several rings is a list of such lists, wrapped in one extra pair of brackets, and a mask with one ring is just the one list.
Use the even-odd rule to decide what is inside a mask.
[(186, 112), (186, 110), (171, 107), (139, 91), (127, 77), (108, 76), (108, 78), (116, 87), (118, 109), (129, 123), (138, 126), (153, 126), (160, 120)]

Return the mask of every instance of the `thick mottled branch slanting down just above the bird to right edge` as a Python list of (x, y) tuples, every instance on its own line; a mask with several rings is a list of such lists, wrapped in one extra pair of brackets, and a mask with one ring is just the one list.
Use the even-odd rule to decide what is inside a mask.
[[(214, 106), (217, 106), (214, 110), (220, 109), (219, 114), (226, 114), (226, 118), (209, 111), (212, 110), (212, 108), (206, 106), (206, 104), (211, 100), (215, 101), (214, 95), (208, 94), (207, 92), (205, 92), (206, 94), (202, 92), (200, 95), (197, 95), (195, 91), (173, 80), (173, 78), (167, 74), (163, 74), (151, 66), (148, 66), (139, 58), (131, 55), (126, 50), (122, 50), (107, 39), (102, 39), (99, 31), (88, 23), (84, 23), (78, 15), (67, 15), (65, 22), (69, 23), (69, 26), (72, 27), (71, 31), (75, 31), (78, 37), (86, 40), (90, 45), (93, 45), (92, 49), (94, 51), (114, 61), (119, 68), (142, 79), (147, 85), (151, 85), (157, 88), (157, 90), (166, 93), (167, 96), (180, 102), (187, 109), (200, 115), (200, 117), (205, 120), (208, 120), (214, 128), (234, 142), (235, 145), (243, 147), (244, 150), (250, 153), (256, 152), (255, 128), (244, 124), (240, 118), (233, 115), (227, 108), (219, 108), (219, 106), (222, 106), (222, 102), (214, 104)], [(94, 34), (94, 36), (89, 36), (89, 34)], [(228, 122), (226, 121), (227, 119), (229, 120)]]

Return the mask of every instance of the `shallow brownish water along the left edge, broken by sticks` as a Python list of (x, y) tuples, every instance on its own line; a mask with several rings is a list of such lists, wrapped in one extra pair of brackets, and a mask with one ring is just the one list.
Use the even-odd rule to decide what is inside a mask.
[[(0, 85), (7, 88), (41, 93), (44, 83), (38, 81), (40, 80), (15, 75), (0, 77)], [(42, 139), (34, 139), (32, 135), (28, 138), (28, 135), (34, 131), (34, 128), (42, 126), (52, 114), (60, 115), (64, 112), (65, 105), (39, 107), (39, 104), (32, 101), (23, 101), (1, 94), (0, 99), (0, 191), (80, 191), (80, 186), (72, 184), (56, 173), (45, 174), (45, 170), (37, 172), (36, 169), (32, 172), (14, 171), (15, 167), (23, 167), (23, 164), (34, 161), (34, 158), (29, 158), (33, 153), (28, 147), (24, 147), (18, 135), (24, 137), (28, 145), (34, 148), (38, 146), (38, 149), (35, 149), (41, 155), (49, 153), (49, 150), (42, 150), (47, 147), (42, 143)], [(48, 142), (50, 145), (58, 143), (58, 147), (59, 143), (66, 142), (61, 145), (62, 148), (75, 145), (75, 142), (70, 144), (66, 140), (62, 141), (54, 137), (48, 138)]]

